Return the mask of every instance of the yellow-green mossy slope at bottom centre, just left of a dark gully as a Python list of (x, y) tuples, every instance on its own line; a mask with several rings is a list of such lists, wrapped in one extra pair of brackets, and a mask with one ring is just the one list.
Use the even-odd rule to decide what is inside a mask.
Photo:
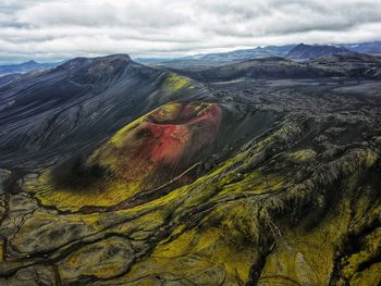
[[(247, 283), (250, 266), (258, 259), (258, 252), (255, 245), (239, 246), (241, 241), (246, 240), (244, 236), (247, 233), (237, 229), (236, 224), (232, 224), (233, 216), (242, 220), (247, 215), (250, 215), (250, 212), (245, 212), (242, 206), (233, 203), (212, 211), (201, 223), (207, 224), (207, 227), (183, 233), (184, 227), (180, 225), (180, 229), (175, 229), (170, 238), (161, 241), (149, 258), (132, 268), (125, 277), (126, 281), (133, 281), (138, 276), (165, 278), (169, 275), (173, 278), (194, 277), (192, 281), (196, 284), (212, 283), (211, 281), (217, 277), (224, 278), (228, 285)], [(209, 225), (213, 220), (219, 223), (214, 226)], [(179, 234), (181, 235), (177, 236)], [(208, 276), (205, 271), (210, 269), (221, 275), (214, 273), (213, 277)], [(219, 284), (217, 281), (214, 283)]]

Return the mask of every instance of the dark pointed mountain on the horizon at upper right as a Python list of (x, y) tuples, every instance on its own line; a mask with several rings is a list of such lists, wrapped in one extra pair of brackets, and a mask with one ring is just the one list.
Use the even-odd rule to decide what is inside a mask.
[(286, 58), (293, 59), (293, 60), (312, 60), (312, 59), (317, 59), (329, 54), (351, 54), (351, 53), (353, 52), (342, 47), (311, 46), (311, 45), (299, 43), (296, 47), (294, 47), (292, 50), (290, 50), (290, 52), (286, 54)]

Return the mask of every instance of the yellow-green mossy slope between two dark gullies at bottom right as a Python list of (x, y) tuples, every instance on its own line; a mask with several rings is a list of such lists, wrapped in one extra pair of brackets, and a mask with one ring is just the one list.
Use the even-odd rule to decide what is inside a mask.
[[(348, 182), (356, 179), (357, 176), (353, 175)], [(355, 188), (353, 183), (347, 185), (346, 191)], [(316, 211), (311, 210), (311, 215)], [(259, 285), (276, 285), (284, 278), (300, 285), (328, 285), (334, 269), (334, 256), (343, 244), (352, 219), (351, 200), (344, 196), (340, 204), (312, 228), (304, 226), (303, 220), (295, 227), (279, 226), (276, 248), (267, 257)]]

